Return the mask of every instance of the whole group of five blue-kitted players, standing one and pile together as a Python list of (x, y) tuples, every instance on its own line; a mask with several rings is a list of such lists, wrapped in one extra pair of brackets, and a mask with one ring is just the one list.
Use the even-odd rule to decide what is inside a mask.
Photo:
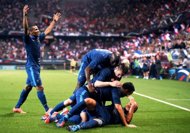
[[(73, 94), (53, 109), (48, 107), (40, 78), (40, 42), (52, 31), (61, 14), (56, 13), (44, 33), (40, 33), (37, 26), (29, 29), (28, 11), (29, 7), (25, 5), (23, 27), (27, 52), (27, 86), (22, 90), (13, 112), (25, 113), (20, 107), (31, 89), (35, 87), (37, 96), (46, 111), (46, 115), (43, 116), (45, 123), (56, 122), (57, 127), (63, 127), (67, 122), (72, 122), (74, 125), (67, 124), (69, 131), (119, 123), (135, 128), (135, 125), (130, 124), (133, 113), (138, 108), (131, 96), (135, 88), (131, 82), (120, 82), (123, 75), (123, 69), (119, 65), (120, 57), (105, 49), (94, 49), (83, 56)], [(125, 96), (130, 101), (122, 107), (120, 98)], [(111, 101), (111, 104), (106, 105), (106, 101)], [(72, 108), (65, 111), (67, 106)], [(63, 109), (64, 111), (59, 113)]]

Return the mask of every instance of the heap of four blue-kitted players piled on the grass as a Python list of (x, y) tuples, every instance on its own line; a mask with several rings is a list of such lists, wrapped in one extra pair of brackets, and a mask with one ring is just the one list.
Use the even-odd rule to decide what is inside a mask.
[[(137, 103), (130, 96), (135, 88), (131, 82), (120, 82), (123, 69), (119, 63), (119, 55), (105, 49), (94, 49), (85, 54), (75, 91), (43, 118), (45, 123), (56, 122), (57, 127), (63, 127), (67, 122), (74, 123), (67, 126), (69, 131), (119, 123), (136, 127), (129, 124), (137, 110)], [(125, 96), (130, 102), (122, 107), (120, 98)], [(111, 104), (106, 105), (106, 101), (111, 101)], [(58, 113), (67, 106), (72, 106), (70, 111)]]

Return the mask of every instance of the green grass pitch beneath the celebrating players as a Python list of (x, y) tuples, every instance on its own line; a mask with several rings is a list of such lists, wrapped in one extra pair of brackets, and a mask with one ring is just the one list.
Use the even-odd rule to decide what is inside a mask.
[[(42, 70), (41, 78), (45, 88), (46, 98), (50, 107), (68, 98), (76, 85), (77, 76), (69, 71)], [(40, 120), (44, 114), (43, 107), (33, 89), (22, 109), (27, 114), (14, 114), (15, 106), (22, 88), (25, 86), (25, 71), (0, 71), (0, 132), (6, 133), (63, 133), (52, 124), (44, 124)], [(136, 92), (160, 100), (164, 100), (190, 109), (190, 84), (172, 80), (143, 80), (123, 78), (122, 82), (131, 81)], [(81, 130), (88, 133), (188, 133), (190, 130), (190, 112), (165, 105), (138, 95), (133, 95), (139, 104), (132, 123), (136, 129), (125, 128), (121, 125), (109, 125), (102, 128)], [(174, 99), (174, 100), (170, 100)], [(175, 100), (176, 99), (176, 100)], [(179, 100), (177, 100), (179, 99)], [(122, 103), (127, 101), (122, 99)]]

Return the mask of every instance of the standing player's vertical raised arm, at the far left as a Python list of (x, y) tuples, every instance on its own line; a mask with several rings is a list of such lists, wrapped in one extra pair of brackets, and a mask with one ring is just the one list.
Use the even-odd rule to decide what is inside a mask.
[(24, 28), (24, 34), (29, 34), (29, 26), (28, 26), (28, 5), (25, 5), (23, 8), (23, 28)]

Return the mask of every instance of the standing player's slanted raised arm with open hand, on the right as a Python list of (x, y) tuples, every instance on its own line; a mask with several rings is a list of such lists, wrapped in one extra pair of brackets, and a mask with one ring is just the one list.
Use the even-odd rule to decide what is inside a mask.
[(55, 26), (55, 23), (60, 19), (60, 17), (61, 17), (61, 13), (59, 13), (59, 12), (57, 12), (56, 14), (53, 15), (52, 22), (44, 31), (45, 35), (49, 34), (52, 31), (53, 27)]

